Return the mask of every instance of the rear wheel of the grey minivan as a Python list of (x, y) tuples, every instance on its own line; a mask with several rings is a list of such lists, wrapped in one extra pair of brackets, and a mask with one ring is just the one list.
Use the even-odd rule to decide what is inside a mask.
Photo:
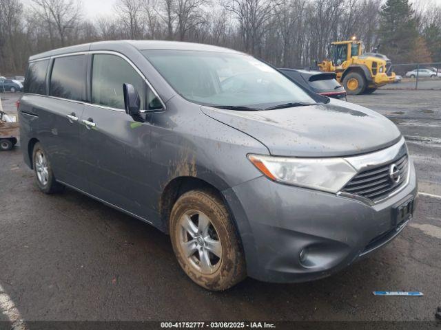
[(56, 181), (48, 155), (39, 142), (34, 145), (32, 151), (32, 165), (37, 179), (37, 186), (42, 192), (54, 194), (63, 190), (64, 186)]

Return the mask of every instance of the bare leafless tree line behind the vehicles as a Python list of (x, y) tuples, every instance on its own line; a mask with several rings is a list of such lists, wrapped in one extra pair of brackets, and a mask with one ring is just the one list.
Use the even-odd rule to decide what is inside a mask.
[(329, 43), (357, 36), (393, 63), (441, 62), (441, 6), (409, 0), (116, 0), (87, 18), (81, 0), (0, 0), (0, 75), (28, 57), (118, 39), (208, 43), (278, 67), (326, 58)]

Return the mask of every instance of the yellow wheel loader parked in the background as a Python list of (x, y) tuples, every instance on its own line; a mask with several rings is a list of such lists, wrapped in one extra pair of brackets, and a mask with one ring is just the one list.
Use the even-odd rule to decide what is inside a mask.
[(323, 72), (335, 72), (347, 94), (371, 94), (378, 87), (393, 83), (392, 63), (382, 54), (363, 53), (363, 44), (351, 41), (331, 43), (329, 59), (318, 63)]

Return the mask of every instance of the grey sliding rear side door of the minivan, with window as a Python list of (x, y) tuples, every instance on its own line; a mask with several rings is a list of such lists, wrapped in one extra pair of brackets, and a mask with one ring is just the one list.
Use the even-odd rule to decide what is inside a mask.
[(39, 133), (55, 177), (88, 191), (84, 157), (79, 140), (79, 118), (85, 98), (85, 54), (52, 58), (49, 95), (39, 115)]

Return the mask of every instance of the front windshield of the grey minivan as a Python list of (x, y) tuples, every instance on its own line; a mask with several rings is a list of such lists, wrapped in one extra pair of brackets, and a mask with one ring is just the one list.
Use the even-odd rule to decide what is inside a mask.
[(315, 102), (283, 74), (245, 54), (186, 50), (143, 54), (178, 94), (197, 104), (265, 109)]

